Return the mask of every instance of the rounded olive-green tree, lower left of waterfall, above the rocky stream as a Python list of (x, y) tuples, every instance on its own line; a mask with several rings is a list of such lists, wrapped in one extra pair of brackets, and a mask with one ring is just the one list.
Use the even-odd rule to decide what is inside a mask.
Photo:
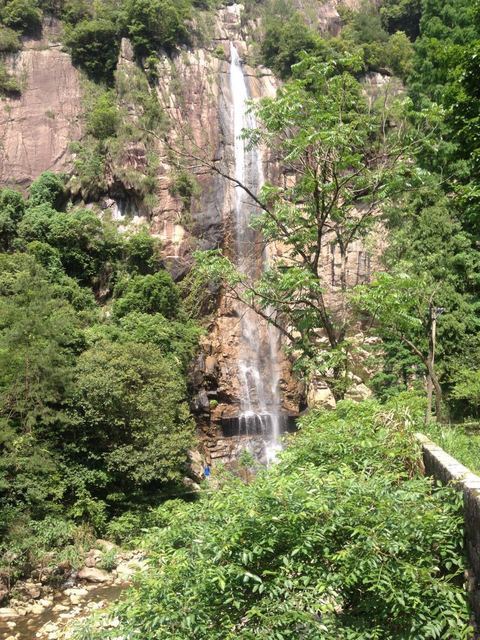
[(96, 343), (78, 361), (73, 406), (86, 455), (100, 457), (116, 491), (183, 477), (193, 434), (185, 382), (156, 345)]

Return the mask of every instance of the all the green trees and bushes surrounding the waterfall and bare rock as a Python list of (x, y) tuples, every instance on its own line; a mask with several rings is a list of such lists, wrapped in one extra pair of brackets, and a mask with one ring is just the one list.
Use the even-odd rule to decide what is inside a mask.
[[(480, 8), (365, 0), (332, 36), (296, 3), (246, 3), (262, 18), (244, 21), (260, 25), (252, 62), (284, 81), (245, 134), (287, 177), (265, 185), (254, 225), (286, 254), (255, 282), (221, 252), (199, 254), (207, 282), (183, 288), (197, 309), (213, 284), (268, 317), (297, 374), (322, 376), (338, 409), (303, 418), (251, 484), (219, 473), (218, 491), (158, 506), (185, 489), (199, 329), (148, 230), (120, 233), (74, 203), (116, 184), (138, 208), (154, 204), (152, 141), (169, 127), (156, 56), (191, 45), (197, 10), (216, 4), (0, 3), (0, 55), (60, 19), (85, 102), (74, 174), (43, 174), (28, 197), (0, 191), (0, 577), (75, 565), (105, 534), (144, 545), (153, 566), (120, 628), (85, 639), (467, 638), (460, 505), (420, 476), (425, 403), (402, 394), (426, 387), (428, 433), (478, 470), (478, 435), (438, 423), (479, 413)], [(385, 99), (366, 95), (371, 72), (393, 78)], [(0, 93), (21, 93), (2, 61)], [(135, 169), (132, 147), (145, 158)], [(198, 185), (180, 164), (171, 192), (187, 210)], [(353, 286), (349, 251), (375, 234), (388, 235), (381, 273)], [(377, 399), (355, 406), (343, 398), (367, 349)]]

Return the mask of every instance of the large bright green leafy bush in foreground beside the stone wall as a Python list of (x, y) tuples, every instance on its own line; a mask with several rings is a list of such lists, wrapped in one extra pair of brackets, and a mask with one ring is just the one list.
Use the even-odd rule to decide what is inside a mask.
[(152, 568), (119, 627), (79, 636), (467, 638), (461, 500), (416, 474), (412, 417), (393, 403), (313, 412), (252, 483), (157, 509)]

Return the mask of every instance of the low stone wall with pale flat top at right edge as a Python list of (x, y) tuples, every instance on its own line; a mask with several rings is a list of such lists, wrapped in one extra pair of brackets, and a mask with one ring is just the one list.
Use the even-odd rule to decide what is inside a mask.
[(465, 543), (469, 562), (468, 587), (475, 617), (476, 638), (480, 637), (480, 477), (448, 455), (423, 434), (425, 473), (444, 484), (452, 483), (463, 493), (465, 506)]

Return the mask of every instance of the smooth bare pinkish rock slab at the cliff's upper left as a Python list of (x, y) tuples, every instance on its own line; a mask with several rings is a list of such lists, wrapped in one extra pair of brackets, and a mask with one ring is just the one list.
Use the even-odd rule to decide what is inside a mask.
[(58, 36), (58, 24), (47, 24), (41, 40), (26, 40), (7, 60), (22, 93), (0, 105), (0, 184), (26, 187), (47, 169), (71, 169), (69, 144), (82, 131), (80, 76)]

